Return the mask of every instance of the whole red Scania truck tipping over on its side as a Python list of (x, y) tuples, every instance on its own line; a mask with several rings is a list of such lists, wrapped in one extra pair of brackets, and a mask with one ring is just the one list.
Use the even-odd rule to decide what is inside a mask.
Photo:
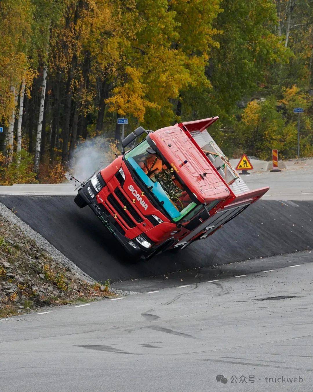
[(89, 205), (135, 258), (207, 238), (269, 189), (250, 191), (238, 177), (207, 132), (217, 119), (135, 129), (122, 154), (81, 183), (75, 203)]

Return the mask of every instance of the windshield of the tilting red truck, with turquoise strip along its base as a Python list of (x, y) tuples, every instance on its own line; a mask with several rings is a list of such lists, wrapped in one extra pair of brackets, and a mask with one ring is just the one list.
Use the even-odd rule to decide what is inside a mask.
[(191, 200), (175, 178), (174, 170), (167, 167), (146, 140), (127, 152), (124, 158), (173, 221), (180, 221), (184, 217), (183, 220), (189, 220), (203, 209), (201, 204)]

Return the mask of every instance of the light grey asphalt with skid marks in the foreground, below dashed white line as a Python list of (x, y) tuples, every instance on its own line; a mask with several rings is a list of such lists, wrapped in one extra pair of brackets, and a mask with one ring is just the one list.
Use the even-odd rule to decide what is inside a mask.
[(3, 319), (0, 391), (311, 392), (312, 276), (290, 263)]

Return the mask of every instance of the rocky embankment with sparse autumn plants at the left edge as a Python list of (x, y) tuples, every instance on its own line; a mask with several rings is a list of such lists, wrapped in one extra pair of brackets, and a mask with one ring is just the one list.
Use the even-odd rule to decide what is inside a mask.
[(0, 215), (0, 317), (107, 298), (109, 286), (87, 283)]

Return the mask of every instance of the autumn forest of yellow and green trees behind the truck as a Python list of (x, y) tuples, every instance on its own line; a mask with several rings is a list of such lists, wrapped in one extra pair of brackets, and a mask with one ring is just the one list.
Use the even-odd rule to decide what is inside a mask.
[[(58, 183), (77, 149), (219, 116), (229, 158), (313, 156), (312, 0), (1, 0), (0, 184)], [(1, 130), (1, 129), (0, 129)]]

